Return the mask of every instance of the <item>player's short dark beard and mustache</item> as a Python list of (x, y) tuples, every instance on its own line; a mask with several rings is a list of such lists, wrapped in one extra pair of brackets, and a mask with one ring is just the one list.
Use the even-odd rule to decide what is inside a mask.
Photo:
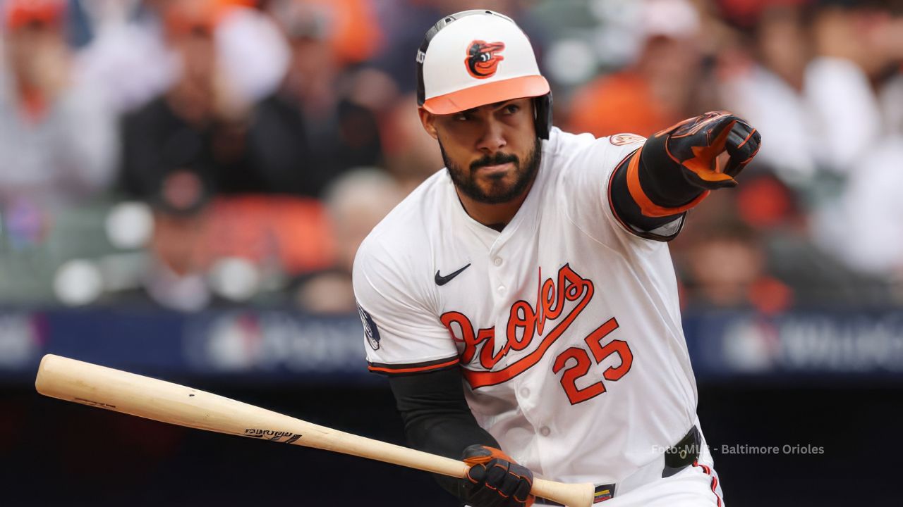
[[(470, 169), (464, 170), (449, 158), (445, 148), (442, 147), (442, 141), (439, 142), (442, 161), (445, 161), (445, 167), (452, 177), (454, 186), (465, 196), (484, 204), (501, 204), (523, 194), (527, 187), (530, 186), (530, 183), (533, 182), (536, 171), (539, 171), (539, 164), (543, 157), (542, 147), (542, 142), (537, 137), (533, 150), (526, 154), (526, 160), (523, 163), (513, 153), (497, 152), (494, 156), (486, 155), (477, 161), (470, 162)], [(507, 186), (492, 185), (489, 190), (479, 187), (477, 184), (477, 170), (479, 168), (508, 162), (511, 162), (515, 167), (517, 179), (513, 184)]]

